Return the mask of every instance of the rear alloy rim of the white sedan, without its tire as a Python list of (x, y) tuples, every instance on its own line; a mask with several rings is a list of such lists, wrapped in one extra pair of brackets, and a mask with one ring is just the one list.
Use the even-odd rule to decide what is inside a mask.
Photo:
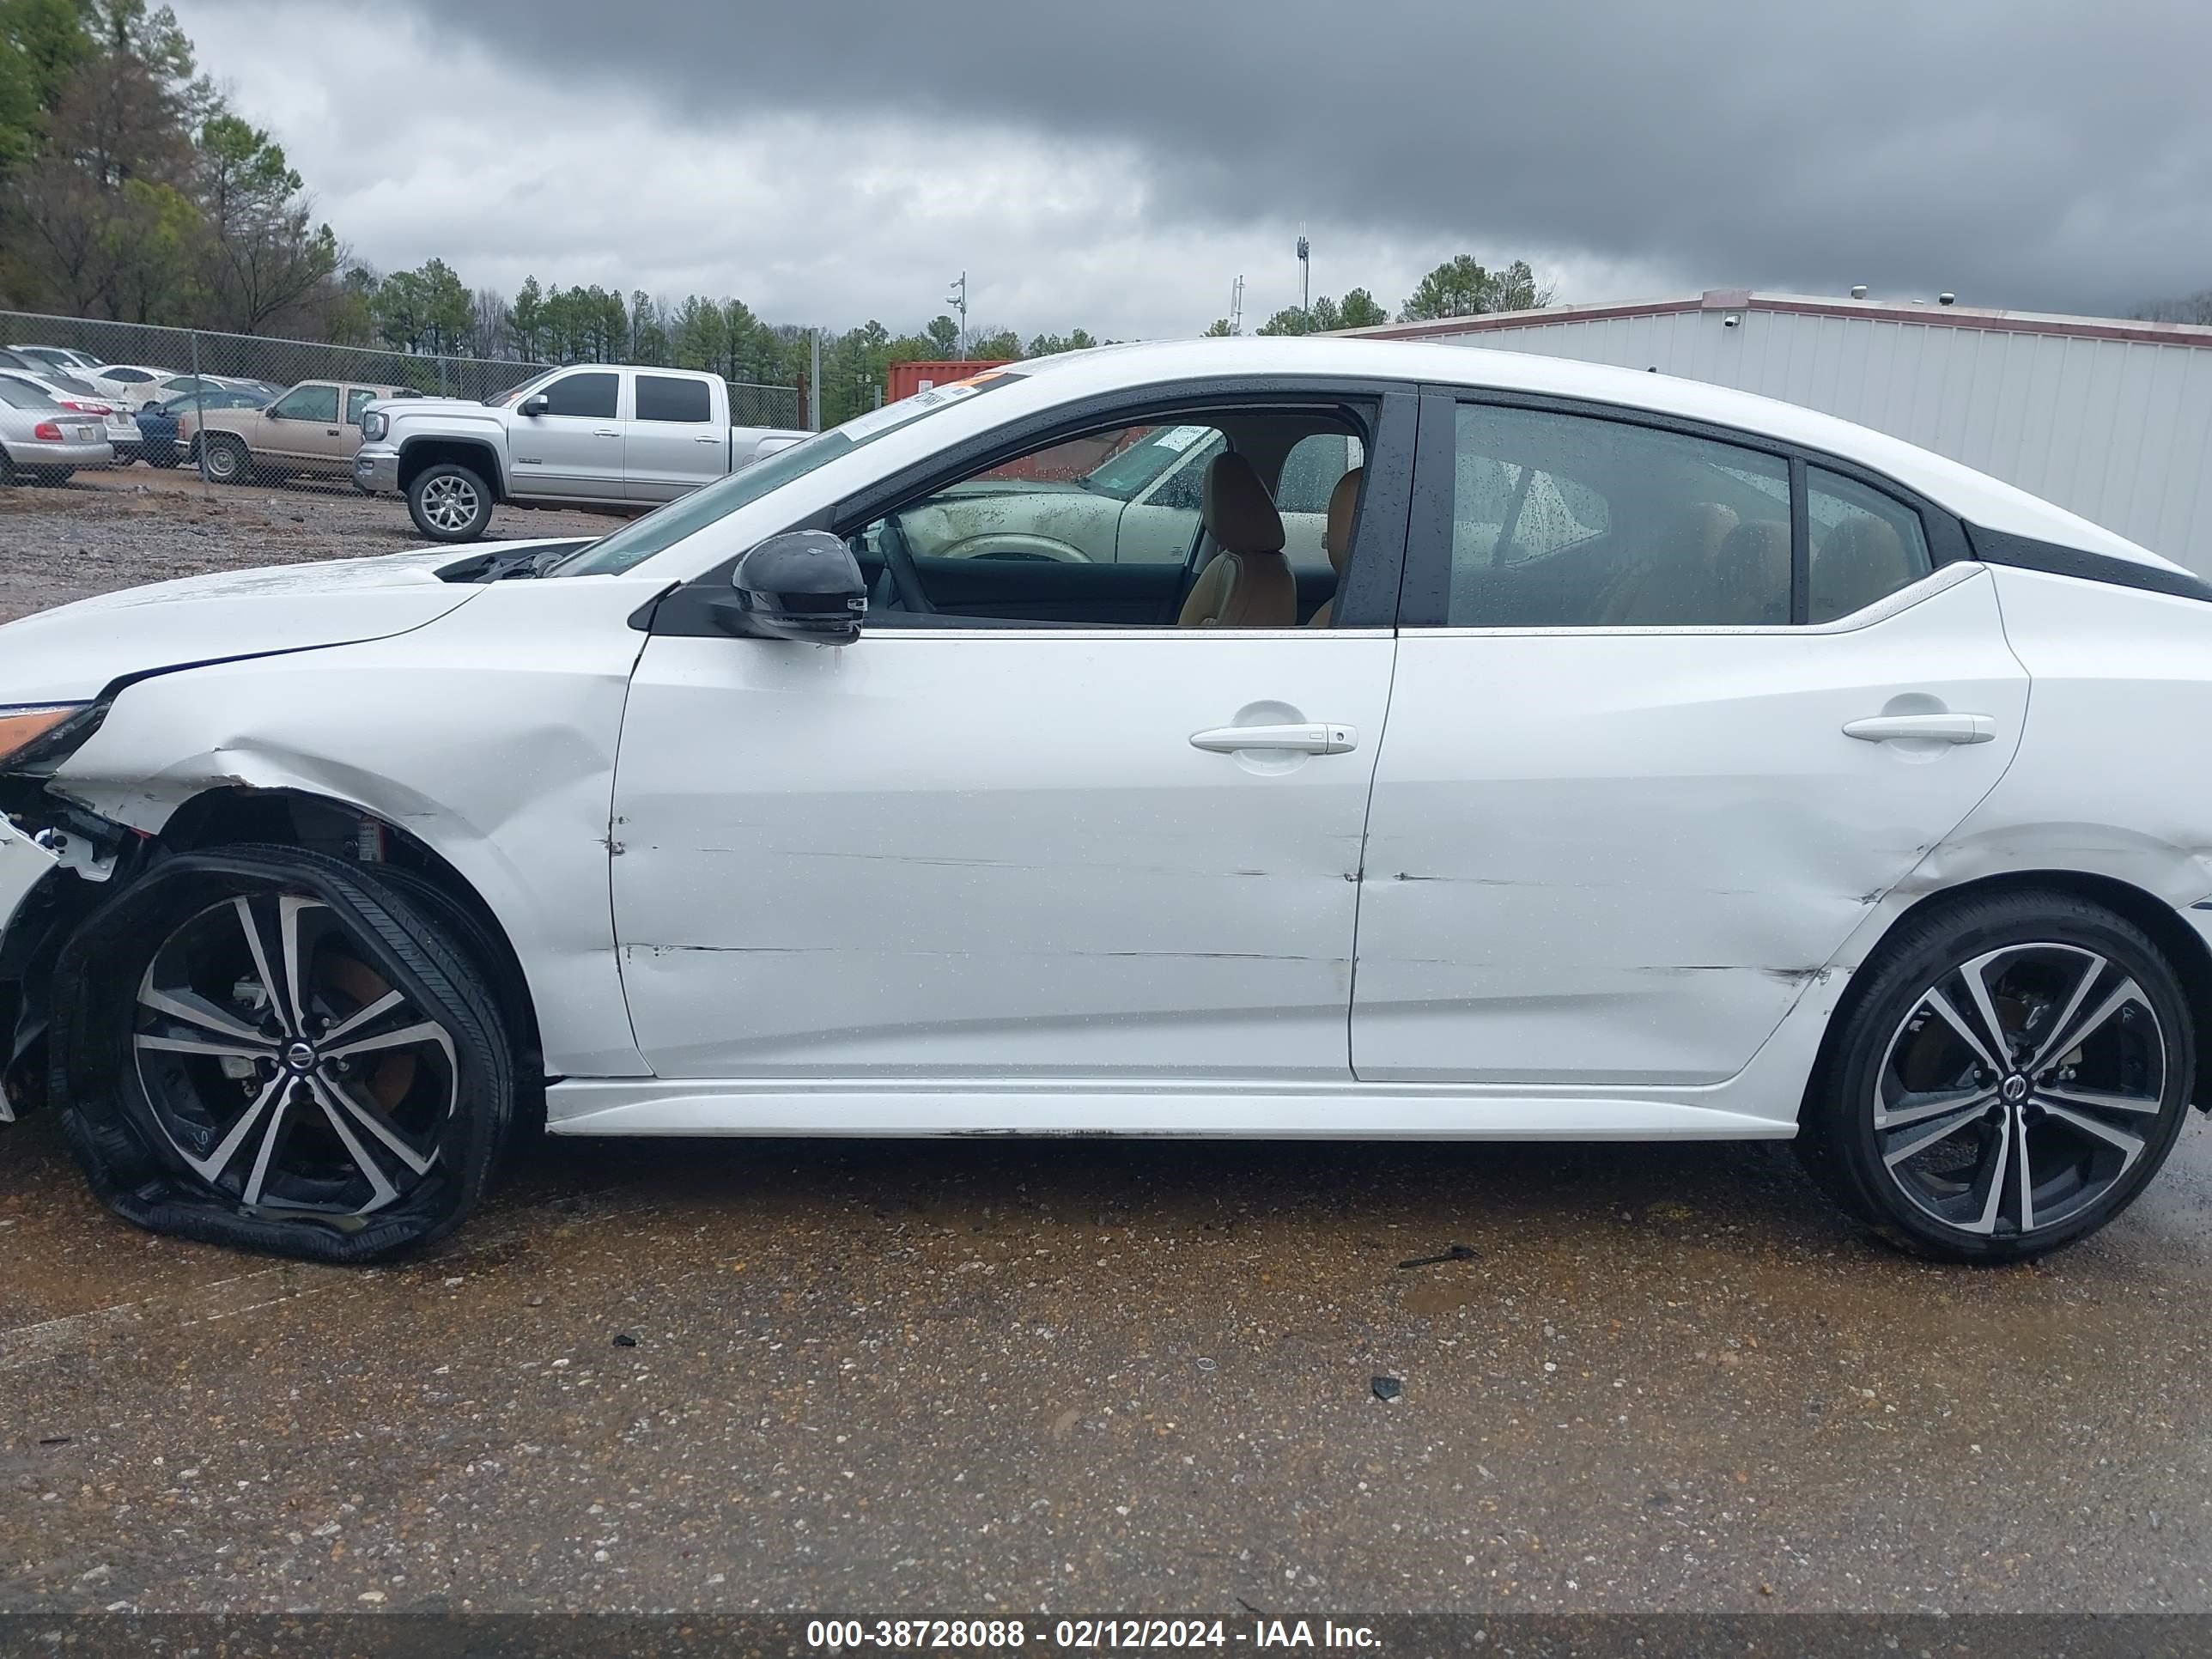
[(2006, 945), (1944, 971), (1898, 1022), (1874, 1135), (1909, 1203), (2017, 1239), (2064, 1225), (2137, 1166), (2166, 1084), (2166, 1031), (2124, 967), (2079, 945)]

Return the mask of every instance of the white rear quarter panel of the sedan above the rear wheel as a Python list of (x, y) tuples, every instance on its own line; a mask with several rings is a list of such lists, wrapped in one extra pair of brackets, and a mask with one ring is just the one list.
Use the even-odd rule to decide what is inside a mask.
[(2033, 681), (2026, 734), (1911, 894), (2020, 869), (2110, 876), (2177, 907), (2212, 894), (2212, 604), (1991, 575)]

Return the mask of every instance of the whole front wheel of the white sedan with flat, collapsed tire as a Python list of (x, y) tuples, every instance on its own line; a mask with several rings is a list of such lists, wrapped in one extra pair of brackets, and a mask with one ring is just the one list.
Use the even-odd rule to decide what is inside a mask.
[(153, 1232), (307, 1261), (442, 1239), (515, 1110), (478, 949), (374, 867), (294, 847), (153, 865), (55, 964), (49, 1095), (93, 1192)]

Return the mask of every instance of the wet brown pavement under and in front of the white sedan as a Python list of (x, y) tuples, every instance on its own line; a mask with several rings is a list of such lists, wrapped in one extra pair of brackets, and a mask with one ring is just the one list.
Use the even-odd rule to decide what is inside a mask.
[(549, 1141), (369, 1272), (0, 1155), (0, 1608), (2212, 1608), (2203, 1126), (1982, 1272), (1774, 1146)]

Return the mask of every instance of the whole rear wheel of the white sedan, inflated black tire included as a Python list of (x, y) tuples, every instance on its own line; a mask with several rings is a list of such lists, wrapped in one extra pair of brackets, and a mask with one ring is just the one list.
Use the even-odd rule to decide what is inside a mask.
[(2073, 894), (1991, 894), (1905, 922), (1860, 969), (1796, 1150), (1905, 1250), (2026, 1261), (2135, 1203), (2194, 1088), (2188, 998), (2148, 933)]

